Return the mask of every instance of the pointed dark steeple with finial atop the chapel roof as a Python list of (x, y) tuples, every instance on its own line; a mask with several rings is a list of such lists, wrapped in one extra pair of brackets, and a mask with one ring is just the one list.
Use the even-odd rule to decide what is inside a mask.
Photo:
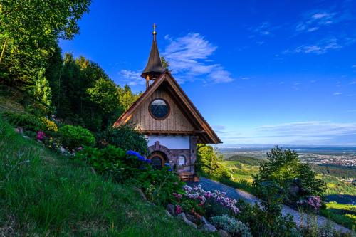
[(153, 41), (151, 46), (150, 57), (145, 70), (143, 70), (141, 76), (146, 79), (146, 88), (148, 88), (149, 81), (155, 80), (159, 75), (165, 72), (165, 69), (162, 66), (161, 58), (159, 57), (159, 51), (156, 42), (156, 24), (153, 23)]

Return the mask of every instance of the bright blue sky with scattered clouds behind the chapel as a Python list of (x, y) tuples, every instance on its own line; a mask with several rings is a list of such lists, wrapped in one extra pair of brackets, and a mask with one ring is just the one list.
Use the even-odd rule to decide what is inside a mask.
[(143, 91), (154, 22), (225, 145), (356, 145), (356, 1), (93, 0), (60, 45)]

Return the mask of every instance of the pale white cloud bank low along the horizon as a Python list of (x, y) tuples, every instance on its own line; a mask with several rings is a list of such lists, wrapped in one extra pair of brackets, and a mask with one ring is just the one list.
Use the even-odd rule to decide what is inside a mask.
[(356, 122), (330, 121), (289, 122), (221, 134), (225, 144), (355, 144), (355, 138)]

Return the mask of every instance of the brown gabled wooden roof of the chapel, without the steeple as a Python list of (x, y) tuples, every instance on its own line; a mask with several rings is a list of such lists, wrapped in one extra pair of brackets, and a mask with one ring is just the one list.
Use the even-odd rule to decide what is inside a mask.
[(206, 120), (204, 120), (204, 117), (201, 116), (200, 112), (197, 110), (197, 107), (195, 107), (192, 101), (189, 100), (187, 94), (184, 93), (182, 88), (177, 83), (177, 80), (175, 80), (172, 74), (168, 71), (162, 73), (162, 75), (160, 75), (159, 78), (157, 78), (157, 80), (155, 80), (155, 82), (147, 88), (145, 93), (143, 93), (140, 98), (138, 98), (136, 102), (119, 117), (119, 119), (114, 123), (114, 127), (125, 125), (129, 122), (135, 110), (137, 110), (140, 105), (150, 98), (150, 95), (152, 95), (152, 93), (154, 93), (155, 90), (157, 90), (157, 88), (159, 88), (159, 86), (163, 83), (167, 90), (169, 90), (169, 93), (178, 101), (177, 105), (182, 108), (182, 111), (185, 112), (185, 115), (189, 121), (192, 122), (195, 127), (199, 128), (199, 130), (197, 130), (199, 142), (206, 144), (222, 143), (221, 139), (219, 139), (214, 130), (212, 130), (210, 125), (206, 122)]

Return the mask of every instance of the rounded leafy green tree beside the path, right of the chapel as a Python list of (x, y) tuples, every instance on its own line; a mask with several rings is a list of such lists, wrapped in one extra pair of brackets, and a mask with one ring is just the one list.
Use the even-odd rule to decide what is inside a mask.
[(316, 178), (308, 164), (300, 162), (297, 152), (275, 147), (267, 153), (267, 157), (267, 161), (261, 163), (258, 174), (253, 175), (253, 186), (256, 189), (264, 182), (271, 181), (283, 190), (285, 201), (289, 203), (325, 191), (325, 183)]

